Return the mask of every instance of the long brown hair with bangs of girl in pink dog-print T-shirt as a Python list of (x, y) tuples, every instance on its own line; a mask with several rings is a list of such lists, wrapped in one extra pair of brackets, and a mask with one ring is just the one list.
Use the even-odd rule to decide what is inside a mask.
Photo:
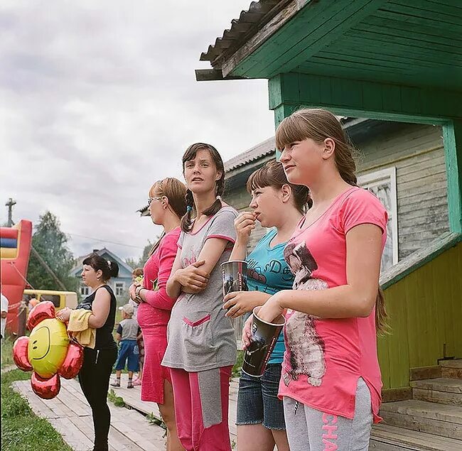
[[(282, 151), (294, 141), (304, 141), (308, 138), (316, 143), (322, 143), (326, 138), (333, 139), (334, 162), (340, 177), (350, 185), (357, 185), (356, 164), (353, 158), (355, 148), (334, 114), (321, 108), (299, 109), (279, 124), (276, 130), (276, 147)], [(375, 300), (375, 326), (379, 332), (388, 330), (385, 297), (381, 288)]]

